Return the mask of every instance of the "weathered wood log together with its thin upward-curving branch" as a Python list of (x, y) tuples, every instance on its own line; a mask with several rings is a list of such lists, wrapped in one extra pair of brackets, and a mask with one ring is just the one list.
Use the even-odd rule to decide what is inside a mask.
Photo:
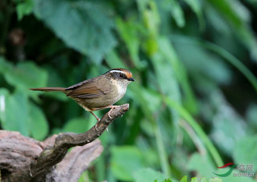
[(77, 181), (103, 151), (100, 140), (95, 139), (128, 110), (129, 104), (124, 104), (112, 110), (112, 118), (106, 113), (98, 123), (98, 131), (93, 126), (82, 134), (62, 133), (43, 142), (16, 131), (0, 130), (1, 181)]

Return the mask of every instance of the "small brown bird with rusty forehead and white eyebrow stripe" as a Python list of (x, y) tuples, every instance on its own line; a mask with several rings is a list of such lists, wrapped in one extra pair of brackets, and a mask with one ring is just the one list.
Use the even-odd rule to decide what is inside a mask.
[[(98, 77), (85, 80), (68, 88), (62, 87), (43, 87), (30, 90), (36, 91), (62, 91), (66, 96), (75, 100), (82, 108), (89, 111), (96, 119), (95, 129), (100, 121), (92, 111), (111, 108), (110, 113), (118, 105), (113, 105), (120, 100), (126, 93), (127, 86), (130, 82), (134, 82), (132, 74), (129, 70), (123, 68), (112, 69)], [(112, 117), (110, 117), (112, 118)]]

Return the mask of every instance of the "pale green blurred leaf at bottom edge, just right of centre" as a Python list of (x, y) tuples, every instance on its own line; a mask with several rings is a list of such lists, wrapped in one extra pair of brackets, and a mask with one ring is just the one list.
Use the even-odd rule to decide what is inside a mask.
[(133, 177), (136, 182), (163, 181), (164, 174), (151, 168), (143, 168), (135, 171)]

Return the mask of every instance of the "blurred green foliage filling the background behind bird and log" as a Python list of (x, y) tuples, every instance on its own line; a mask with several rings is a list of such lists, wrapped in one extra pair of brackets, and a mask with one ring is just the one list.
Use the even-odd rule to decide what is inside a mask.
[(117, 105), (130, 109), (80, 182), (219, 181), (228, 162), (256, 174), (256, 12), (253, 0), (1, 0), (1, 129), (87, 131), (96, 120), (73, 100), (28, 89), (123, 67), (136, 82)]

